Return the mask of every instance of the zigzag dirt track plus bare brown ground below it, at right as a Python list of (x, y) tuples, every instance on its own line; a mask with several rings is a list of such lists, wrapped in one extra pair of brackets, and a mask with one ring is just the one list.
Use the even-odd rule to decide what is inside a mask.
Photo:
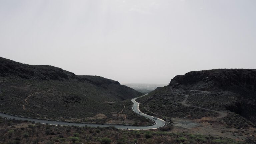
[[(191, 91), (195, 91), (195, 90), (191, 90)], [(209, 91), (197, 91), (197, 92), (200, 92), (200, 93), (196, 93), (196, 94), (202, 94), (202, 93), (214, 94), (214, 92), (209, 92)], [(227, 116), (227, 112), (216, 111), (216, 110), (211, 110), (211, 109), (187, 104), (186, 103), (187, 99), (191, 95), (195, 95), (195, 94), (185, 95), (185, 99), (179, 103), (181, 103), (184, 106), (190, 106), (190, 107), (200, 108), (203, 110), (213, 111), (218, 113), (219, 115), (216, 117), (203, 117), (200, 119), (193, 119), (193, 120), (174, 117), (171, 119), (173, 121), (173, 126), (174, 126), (172, 129), (172, 132), (180, 132), (180, 133), (186, 132), (191, 134), (228, 137), (228, 138), (236, 139), (239, 141), (243, 141), (248, 137), (248, 135), (252, 136), (254, 134), (255, 128), (253, 127), (240, 129), (240, 132), (236, 128), (226, 127), (225, 122), (223, 123), (222, 120), (219, 120), (219, 119)], [(244, 132), (241, 133), (241, 131), (244, 131)]]

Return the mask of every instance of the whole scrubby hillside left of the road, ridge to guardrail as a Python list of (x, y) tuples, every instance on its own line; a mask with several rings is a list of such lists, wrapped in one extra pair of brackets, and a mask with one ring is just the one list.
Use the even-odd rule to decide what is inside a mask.
[[(78, 76), (48, 65), (0, 57), (0, 111), (41, 118), (87, 118), (120, 112), (142, 93), (100, 76)], [(85, 119), (86, 120), (86, 119)]]

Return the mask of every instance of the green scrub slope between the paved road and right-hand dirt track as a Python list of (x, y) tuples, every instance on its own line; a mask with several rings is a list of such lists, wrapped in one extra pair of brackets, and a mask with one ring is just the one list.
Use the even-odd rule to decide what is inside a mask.
[[(181, 94), (179, 94), (179, 93)], [(180, 104), (185, 99), (186, 91), (172, 91), (167, 87), (155, 90), (145, 97), (138, 98), (141, 111), (149, 115), (156, 115), (161, 118), (180, 117), (188, 119), (200, 119), (202, 117), (215, 117), (218, 114), (194, 107), (187, 107)]]

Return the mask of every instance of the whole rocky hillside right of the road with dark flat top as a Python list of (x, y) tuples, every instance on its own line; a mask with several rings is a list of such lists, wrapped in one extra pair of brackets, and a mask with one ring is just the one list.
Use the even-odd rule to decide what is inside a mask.
[[(211, 93), (191, 94), (190, 90)], [(231, 125), (240, 119), (242, 123), (256, 123), (256, 70), (255, 69), (214, 69), (192, 71), (175, 76), (168, 86), (157, 89), (141, 98), (142, 107), (160, 115), (154, 107), (163, 107), (166, 117), (201, 118), (214, 116), (211, 111), (181, 105), (185, 95), (190, 95), (187, 104), (230, 113), (223, 120)], [(155, 103), (155, 106), (150, 103)], [(163, 105), (164, 104), (164, 105)], [(150, 107), (151, 106), (151, 107)], [(195, 110), (197, 109), (197, 110)], [(238, 118), (238, 115), (241, 116)], [(236, 117), (235, 119), (233, 119)], [(245, 120), (246, 119), (246, 120)], [(233, 125), (236, 127), (235, 125)]]

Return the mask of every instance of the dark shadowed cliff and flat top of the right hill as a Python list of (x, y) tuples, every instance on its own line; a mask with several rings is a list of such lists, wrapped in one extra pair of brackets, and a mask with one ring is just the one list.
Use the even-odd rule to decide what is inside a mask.
[(236, 98), (226, 104), (225, 108), (256, 122), (255, 69), (192, 71), (175, 76), (168, 86), (174, 89), (230, 91), (236, 95)]

